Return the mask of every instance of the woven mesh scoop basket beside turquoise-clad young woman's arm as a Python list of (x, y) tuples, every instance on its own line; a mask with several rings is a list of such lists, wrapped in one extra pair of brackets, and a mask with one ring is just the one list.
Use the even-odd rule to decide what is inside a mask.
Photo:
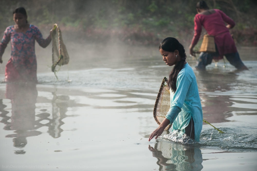
[[(154, 118), (158, 125), (160, 125), (161, 122), (165, 119), (165, 116), (168, 113), (170, 108), (170, 92), (169, 92), (169, 86), (167, 82), (168, 82), (168, 79), (164, 77), (155, 101)], [(168, 125), (165, 128), (165, 130), (169, 130), (170, 127), (171, 127), (171, 124)]]

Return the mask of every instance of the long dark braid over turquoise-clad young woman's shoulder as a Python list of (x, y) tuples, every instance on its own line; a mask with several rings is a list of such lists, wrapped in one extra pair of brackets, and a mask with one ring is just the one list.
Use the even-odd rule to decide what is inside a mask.
[(186, 61), (186, 54), (183, 45), (179, 45), (178, 49), (181, 60), (173, 67), (169, 74), (169, 88), (175, 93), (177, 90), (177, 77), (178, 73), (184, 68), (184, 62)]

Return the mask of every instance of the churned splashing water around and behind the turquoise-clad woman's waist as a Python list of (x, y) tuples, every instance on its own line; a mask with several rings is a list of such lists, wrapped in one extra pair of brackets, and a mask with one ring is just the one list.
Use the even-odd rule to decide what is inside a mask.
[(214, 129), (203, 130), (200, 135), (200, 142), (191, 139), (179, 130), (159, 136), (159, 138), (162, 141), (207, 149), (257, 151), (256, 130), (249, 130), (248, 132), (235, 128), (222, 128), (222, 130), (225, 132), (224, 134)]

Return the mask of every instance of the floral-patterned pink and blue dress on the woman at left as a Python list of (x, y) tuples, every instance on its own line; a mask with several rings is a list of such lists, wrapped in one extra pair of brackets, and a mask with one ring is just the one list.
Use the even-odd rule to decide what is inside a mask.
[(11, 58), (7, 62), (5, 69), (5, 81), (22, 81), (35, 82), (36, 77), (36, 54), (35, 54), (35, 40), (38, 44), (45, 48), (51, 42), (51, 37), (48, 36), (43, 39), (40, 30), (33, 25), (25, 32), (16, 32), (14, 26), (9, 26), (4, 32), (4, 36), (0, 43), (0, 55), (11, 41)]

